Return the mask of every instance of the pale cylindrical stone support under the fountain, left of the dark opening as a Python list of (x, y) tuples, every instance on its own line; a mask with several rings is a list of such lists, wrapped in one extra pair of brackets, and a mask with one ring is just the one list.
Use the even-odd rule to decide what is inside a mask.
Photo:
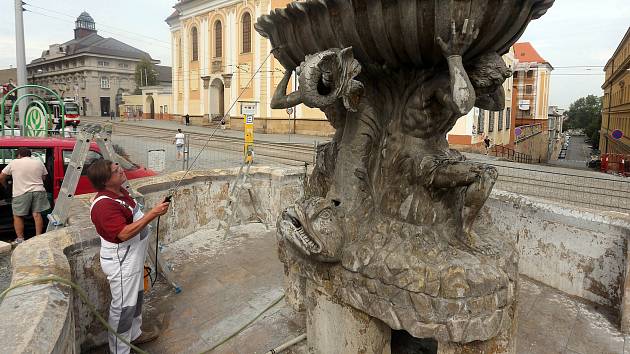
[(391, 330), (382, 321), (334, 302), (306, 285), (306, 331), (310, 353), (390, 354)]

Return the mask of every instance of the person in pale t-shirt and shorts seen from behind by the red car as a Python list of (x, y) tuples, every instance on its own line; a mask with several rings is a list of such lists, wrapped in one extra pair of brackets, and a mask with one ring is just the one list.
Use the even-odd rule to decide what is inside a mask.
[(17, 158), (0, 172), (0, 184), (7, 188), (7, 177), (13, 177), (13, 227), (17, 238), (15, 243), (24, 242), (24, 217), (33, 215), (35, 235), (44, 231), (42, 212), (50, 209), (44, 178), (48, 174), (44, 164), (31, 158), (31, 150), (21, 147), (17, 150)]

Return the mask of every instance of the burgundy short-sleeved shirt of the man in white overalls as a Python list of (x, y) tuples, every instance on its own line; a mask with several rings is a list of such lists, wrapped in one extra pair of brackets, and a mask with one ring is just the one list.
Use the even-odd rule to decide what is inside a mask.
[[(96, 194), (96, 198), (107, 196), (113, 199), (122, 200), (132, 209), (136, 207), (136, 203), (129, 195), (129, 192), (121, 188), (122, 196), (117, 195), (108, 190), (100, 191)], [(96, 227), (96, 232), (105, 240), (112, 243), (123, 242), (118, 238), (118, 234), (125, 226), (133, 222), (133, 213), (129, 208), (120, 204), (115, 200), (103, 198), (99, 200), (90, 213), (92, 223)]]

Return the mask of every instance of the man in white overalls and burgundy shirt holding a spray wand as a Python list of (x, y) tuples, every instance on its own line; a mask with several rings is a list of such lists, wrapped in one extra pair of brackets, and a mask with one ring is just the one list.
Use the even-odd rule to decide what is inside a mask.
[[(107, 275), (112, 302), (109, 324), (128, 341), (144, 343), (157, 333), (142, 333), (144, 259), (149, 241), (148, 225), (166, 214), (169, 203), (162, 202), (147, 214), (122, 188), (123, 169), (108, 160), (97, 160), (87, 170), (88, 179), (98, 191), (90, 215), (101, 236), (101, 268)], [(130, 347), (109, 333), (111, 353), (129, 353)]]

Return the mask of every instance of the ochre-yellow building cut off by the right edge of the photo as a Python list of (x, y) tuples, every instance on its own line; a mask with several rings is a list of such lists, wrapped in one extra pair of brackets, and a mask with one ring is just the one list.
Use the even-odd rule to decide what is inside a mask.
[[(630, 28), (604, 67), (606, 80), (602, 102), (599, 149), (602, 153), (630, 154)], [(623, 137), (613, 136), (621, 130)]]

